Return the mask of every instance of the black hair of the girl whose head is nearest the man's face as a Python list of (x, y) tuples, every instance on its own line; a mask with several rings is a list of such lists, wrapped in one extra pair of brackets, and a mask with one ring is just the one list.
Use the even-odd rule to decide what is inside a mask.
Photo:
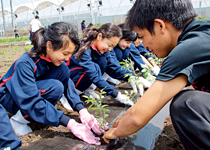
[(122, 38), (126, 41), (136, 41), (137, 33), (134, 30), (126, 29), (125, 23), (119, 24), (118, 27), (122, 29)]

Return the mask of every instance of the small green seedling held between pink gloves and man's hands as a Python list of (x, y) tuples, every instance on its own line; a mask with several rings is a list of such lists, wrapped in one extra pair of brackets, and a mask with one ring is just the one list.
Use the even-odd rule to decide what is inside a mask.
[(99, 99), (93, 98), (91, 95), (88, 97), (86, 95), (83, 95), (84, 98), (87, 100), (85, 101), (87, 104), (91, 103), (91, 105), (88, 107), (88, 110), (95, 110), (95, 115), (99, 115), (99, 118), (97, 119), (98, 123), (100, 124), (99, 129), (105, 129), (105, 126), (107, 124), (106, 118), (109, 116), (107, 112), (109, 112), (109, 109), (105, 109), (108, 105), (102, 104), (102, 94), (106, 94), (104, 89), (100, 90)]

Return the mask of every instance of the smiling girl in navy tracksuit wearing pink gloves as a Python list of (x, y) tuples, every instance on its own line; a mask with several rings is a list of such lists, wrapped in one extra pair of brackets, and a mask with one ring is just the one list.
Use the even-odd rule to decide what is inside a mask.
[[(27, 126), (30, 122), (63, 125), (78, 138), (99, 145), (87, 127), (98, 127), (98, 124), (79, 100), (69, 80), (68, 67), (63, 63), (79, 47), (76, 31), (70, 24), (58, 22), (39, 29), (32, 41), (34, 48), (16, 60), (0, 81), (0, 147), (19, 149), (21, 141), (17, 136), (32, 131)], [(76, 104), (73, 108), (79, 110), (83, 124), (54, 107), (63, 92)], [(9, 120), (4, 109), (15, 115)]]

